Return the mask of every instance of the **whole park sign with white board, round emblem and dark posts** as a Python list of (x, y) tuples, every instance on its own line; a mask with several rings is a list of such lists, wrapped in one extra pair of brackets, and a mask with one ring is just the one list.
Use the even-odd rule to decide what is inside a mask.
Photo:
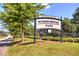
[(34, 20), (34, 43), (36, 43), (36, 30), (48, 29), (48, 33), (51, 33), (51, 29), (58, 29), (61, 31), (60, 38), (62, 42), (62, 17), (52, 16), (39, 16)]

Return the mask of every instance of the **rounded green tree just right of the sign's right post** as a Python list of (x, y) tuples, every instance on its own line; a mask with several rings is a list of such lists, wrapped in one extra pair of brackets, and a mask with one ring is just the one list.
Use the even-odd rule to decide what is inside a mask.
[(73, 23), (71, 19), (65, 18), (63, 20), (63, 31), (66, 33), (72, 33), (74, 36), (74, 33), (77, 31), (77, 24)]

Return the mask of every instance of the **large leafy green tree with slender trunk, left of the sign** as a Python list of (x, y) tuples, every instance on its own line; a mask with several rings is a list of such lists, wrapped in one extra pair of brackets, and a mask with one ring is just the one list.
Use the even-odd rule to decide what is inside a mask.
[(21, 34), (23, 41), (24, 30), (28, 29), (28, 25), (44, 7), (36, 3), (6, 3), (3, 5), (4, 11), (0, 13), (0, 18), (11, 34)]

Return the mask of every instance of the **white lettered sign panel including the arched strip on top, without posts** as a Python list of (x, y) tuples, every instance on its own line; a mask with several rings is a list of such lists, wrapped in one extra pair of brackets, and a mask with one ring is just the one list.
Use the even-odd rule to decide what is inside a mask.
[(61, 21), (58, 17), (39, 16), (36, 18), (36, 29), (58, 29), (61, 30)]

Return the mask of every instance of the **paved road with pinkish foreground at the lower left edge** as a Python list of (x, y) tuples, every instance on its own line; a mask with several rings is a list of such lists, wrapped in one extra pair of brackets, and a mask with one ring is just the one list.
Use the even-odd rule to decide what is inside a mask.
[(0, 41), (0, 56), (5, 56), (5, 53), (7, 52), (7, 46), (11, 42), (12, 42), (12, 39), (10, 38)]

